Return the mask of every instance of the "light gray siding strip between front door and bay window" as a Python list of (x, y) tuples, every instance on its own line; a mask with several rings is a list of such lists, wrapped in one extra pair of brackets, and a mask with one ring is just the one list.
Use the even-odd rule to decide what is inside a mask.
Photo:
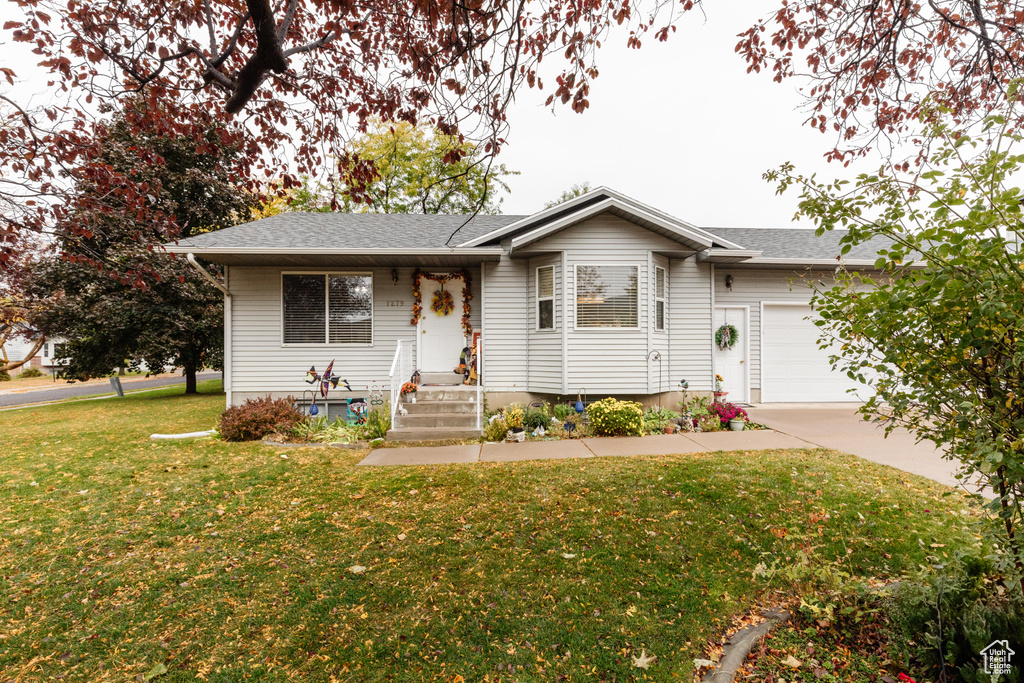
[(484, 263), (483, 386), (487, 391), (526, 391), (529, 300), (528, 263), (506, 255)]

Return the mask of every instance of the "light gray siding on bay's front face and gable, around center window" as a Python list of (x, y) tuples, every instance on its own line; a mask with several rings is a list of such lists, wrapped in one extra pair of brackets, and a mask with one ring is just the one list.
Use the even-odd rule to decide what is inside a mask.
[[(669, 350), (667, 339), (664, 339), (664, 344), (663, 339), (655, 342), (649, 330), (653, 325), (653, 298), (649, 287), (653, 278), (652, 250), (678, 251), (679, 244), (610, 214), (568, 227), (523, 250), (539, 255), (565, 253), (568, 266), (565, 287), (570, 293), (569, 306), (564, 315), (568, 326), (568, 393), (575, 393), (581, 388), (586, 388), (588, 394), (595, 397), (648, 393), (651, 383), (657, 382), (657, 366), (647, 360), (652, 348), (662, 351), (665, 358), (664, 383), (671, 383), (670, 358), (665, 357)], [(637, 266), (639, 329), (574, 329), (575, 266), (588, 264)], [(489, 288), (489, 279), (487, 284)], [(710, 310), (706, 314), (710, 315)], [(531, 357), (531, 373), (532, 368)], [(489, 384), (487, 388), (492, 389)]]

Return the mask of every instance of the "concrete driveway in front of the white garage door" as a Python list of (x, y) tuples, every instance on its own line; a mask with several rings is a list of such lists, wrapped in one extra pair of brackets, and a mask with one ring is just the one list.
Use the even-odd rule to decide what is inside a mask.
[(859, 407), (859, 403), (761, 403), (748, 413), (754, 422), (808, 443), (852, 453), (949, 486), (959, 485), (953, 477), (956, 464), (945, 460), (930, 441), (914, 443), (910, 432), (901, 428), (886, 438), (881, 426), (861, 419), (857, 413)]

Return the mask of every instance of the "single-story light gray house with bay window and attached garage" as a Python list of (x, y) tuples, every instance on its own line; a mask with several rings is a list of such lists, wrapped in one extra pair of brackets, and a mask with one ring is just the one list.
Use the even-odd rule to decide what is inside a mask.
[[(332, 359), (357, 392), (387, 388), (399, 342), (407, 366), (451, 373), (470, 339), (463, 283), (443, 285), (455, 310), (438, 315), (441, 285), (424, 278), (416, 325), (412, 285), (416, 268), (465, 268), (495, 408), (584, 389), (656, 402), (684, 379), (712, 391), (716, 372), (730, 400), (851, 400), (853, 383), (830, 372), (806, 319), (808, 284), (831, 281), (839, 239), (700, 228), (598, 188), (530, 216), (284, 213), (168, 248), (226, 266), (228, 404), (298, 396), (310, 366)], [(870, 268), (874, 258), (862, 247), (843, 262)], [(738, 343), (720, 351), (725, 323)]]

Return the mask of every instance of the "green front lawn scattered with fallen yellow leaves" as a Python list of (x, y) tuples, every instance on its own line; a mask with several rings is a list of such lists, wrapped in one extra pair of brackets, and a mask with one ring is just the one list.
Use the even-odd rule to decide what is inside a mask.
[(151, 441), (215, 424), (219, 382), (181, 390), (0, 413), (0, 681), (688, 679), (784, 588), (759, 562), (974, 542), (961, 497), (836, 452), (355, 468)]

